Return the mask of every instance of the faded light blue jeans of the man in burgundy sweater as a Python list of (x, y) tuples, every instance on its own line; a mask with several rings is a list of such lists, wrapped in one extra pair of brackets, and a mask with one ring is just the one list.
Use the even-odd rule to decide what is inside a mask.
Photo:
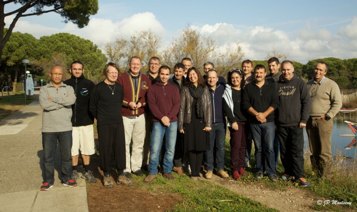
[(164, 126), (160, 122), (154, 122), (151, 132), (150, 157), (149, 157), (149, 173), (152, 175), (158, 174), (159, 155), (162, 146), (162, 138), (165, 134), (166, 151), (163, 157), (163, 172), (171, 173), (173, 159), (175, 155), (177, 121), (170, 122), (170, 127)]

